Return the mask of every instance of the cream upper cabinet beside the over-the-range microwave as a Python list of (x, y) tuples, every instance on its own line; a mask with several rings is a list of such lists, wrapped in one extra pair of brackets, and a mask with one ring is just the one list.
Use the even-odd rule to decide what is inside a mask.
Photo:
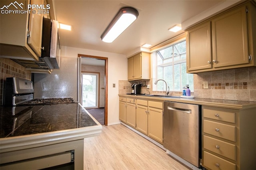
[[(17, 0), (17, 3), (23, 8), (18, 7), (18, 10), (24, 11), (28, 10), (27, 4), (44, 4), (44, 0)], [(9, 4), (10, 1), (1, 1), (1, 6)], [(9, 8), (14, 6), (9, 6), (8, 10)], [(42, 47), (43, 14), (35, 11), (34, 14), (32, 10), (30, 14), (1, 14), (0, 55), (33, 58), (38, 61)]]

